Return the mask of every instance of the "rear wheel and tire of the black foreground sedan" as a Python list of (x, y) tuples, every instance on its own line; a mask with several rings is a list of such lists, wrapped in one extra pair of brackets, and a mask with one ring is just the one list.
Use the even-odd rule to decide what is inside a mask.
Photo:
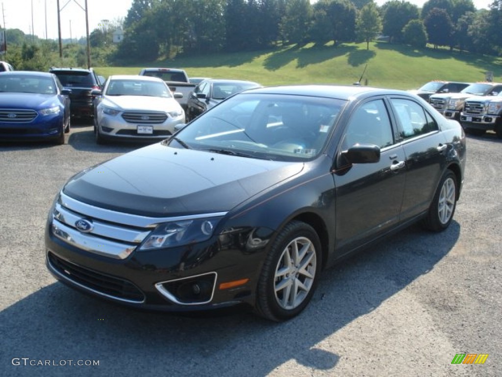
[(426, 229), (441, 232), (448, 228), (457, 205), (457, 187), (457, 177), (451, 170), (446, 170), (424, 219), (423, 225)]

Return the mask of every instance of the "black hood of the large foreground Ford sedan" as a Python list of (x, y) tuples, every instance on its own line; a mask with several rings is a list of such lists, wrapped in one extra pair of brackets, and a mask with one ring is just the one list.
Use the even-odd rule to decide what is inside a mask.
[(300, 173), (303, 166), (158, 143), (84, 170), (65, 184), (63, 193), (92, 206), (142, 216), (226, 212)]

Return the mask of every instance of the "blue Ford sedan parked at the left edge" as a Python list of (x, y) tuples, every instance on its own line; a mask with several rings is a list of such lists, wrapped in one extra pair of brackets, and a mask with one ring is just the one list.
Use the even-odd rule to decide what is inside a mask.
[(0, 140), (64, 144), (64, 134), (70, 132), (70, 93), (53, 73), (0, 73)]

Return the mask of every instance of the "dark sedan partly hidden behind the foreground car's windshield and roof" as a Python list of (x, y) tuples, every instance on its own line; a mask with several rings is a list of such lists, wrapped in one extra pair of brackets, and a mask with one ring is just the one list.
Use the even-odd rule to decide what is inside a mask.
[(262, 86), (258, 82), (210, 78), (197, 84), (187, 101), (186, 120), (197, 118), (225, 98), (242, 90)]

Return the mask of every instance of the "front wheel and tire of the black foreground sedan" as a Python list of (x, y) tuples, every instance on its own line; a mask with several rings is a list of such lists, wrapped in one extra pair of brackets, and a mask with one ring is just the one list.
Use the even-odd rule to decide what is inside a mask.
[(310, 302), (320, 271), (321, 242), (316, 231), (300, 221), (289, 223), (265, 258), (256, 312), (276, 322), (297, 316)]

